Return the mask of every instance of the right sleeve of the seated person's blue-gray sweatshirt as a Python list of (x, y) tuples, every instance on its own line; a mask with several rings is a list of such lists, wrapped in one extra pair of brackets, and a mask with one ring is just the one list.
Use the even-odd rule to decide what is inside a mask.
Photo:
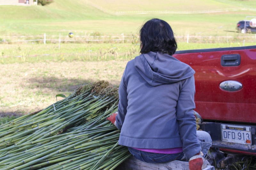
[(187, 160), (201, 151), (201, 145), (197, 142), (196, 136), (196, 119), (194, 116), (196, 106), (194, 95), (195, 78), (192, 76), (183, 80), (177, 102), (179, 132), (183, 142), (183, 152)]

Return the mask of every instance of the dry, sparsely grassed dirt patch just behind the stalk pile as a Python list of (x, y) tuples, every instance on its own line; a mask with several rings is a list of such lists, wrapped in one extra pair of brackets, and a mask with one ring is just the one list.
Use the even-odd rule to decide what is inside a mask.
[[(2, 64), (0, 116), (28, 114), (56, 102), (83, 84), (106, 80), (118, 85), (127, 61)], [(58, 100), (62, 98), (58, 97)]]

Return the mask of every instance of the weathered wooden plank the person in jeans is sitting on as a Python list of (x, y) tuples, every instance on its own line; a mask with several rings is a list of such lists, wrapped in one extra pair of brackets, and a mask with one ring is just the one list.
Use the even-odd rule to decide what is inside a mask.
[[(174, 160), (172, 162), (153, 164), (142, 162), (133, 156), (125, 160), (115, 170), (189, 170), (188, 162)], [(204, 170), (215, 170), (214, 166), (207, 166)]]

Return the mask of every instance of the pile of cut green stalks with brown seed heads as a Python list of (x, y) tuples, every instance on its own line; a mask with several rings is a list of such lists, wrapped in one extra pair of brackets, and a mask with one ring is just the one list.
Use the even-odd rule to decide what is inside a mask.
[(117, 111), (118, 87), (80, 86), (67, 98), (0, 126), (0, 169), (114, 169), (130, 152), (106, 118)]

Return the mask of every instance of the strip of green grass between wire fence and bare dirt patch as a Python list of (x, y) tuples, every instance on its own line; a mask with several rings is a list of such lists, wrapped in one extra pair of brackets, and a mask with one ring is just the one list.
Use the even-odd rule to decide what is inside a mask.
[[(256, 43), (245, 43), (245, 46)], [(178, 43), (179, 50), (241, 47), (243, 43)], [(73, 62), (73, 61), (128, 61), (139, 55), (139, 45), (132, 43), (64, 43), (58, 44), (3, 44), (0, 46), (0, 64)]]

